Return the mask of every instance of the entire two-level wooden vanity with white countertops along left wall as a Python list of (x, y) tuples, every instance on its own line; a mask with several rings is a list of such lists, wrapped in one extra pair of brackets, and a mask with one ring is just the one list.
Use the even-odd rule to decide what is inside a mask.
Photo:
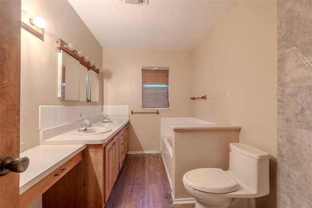
[[(29, 176), (32, 178), (32, 183), (28, 183), (27, 186), (21, 184), (20, 187), (22, 203), (20, 207), (28, 207), (42, 194), (42, 207), (44, 208), (103, 208), (129, 148), (129, 120), (121, 121), (120, 124), (110, 125), (112, 130), (109, 132), (90, 136), (75, 135), (73, 132), (77, 129), (56, 135), (56, 132), (65, 131), (62, 130), (64, 127), (41, 131), (42, 145), (35, 147), (37, 150), (50, 146), (54, 148), (55, 154), (58, 152), (64, 154), (62, 146), (79, 146), (79, 151), (47, 167), (44, 174), (41, 174), (41, 178)], [(97, 125), (102, 124), (95, 124)], [(22, 154), (28, 156), (35, 148)], [(53, 154), (45, 156), (45, 159), (38, 158), (38, 160), (41, 160), (41, 163), (47, 163), (49, 158), (54, 157), (58, 156)], [(71, 162), (72, 160), (75, 163)], [(31, 163), (32, 161), (31, 159)], [(21, 175), (21, 180), (25, 179), (24, 176)]]

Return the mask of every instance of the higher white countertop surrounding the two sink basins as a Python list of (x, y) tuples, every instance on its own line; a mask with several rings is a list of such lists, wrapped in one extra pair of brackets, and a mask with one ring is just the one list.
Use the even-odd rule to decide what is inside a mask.
[(83, 144), (104, 144), (111, 139), (119, 130), (121, 130), (128, 122), (128, 119), (119, 120), (119, 124), (105, 124), (101, 122), (93, 123), (92, 126), (109, 125), (111, 131), (95, 135), (76, 135), (74, 134), (77, 129), (60, 134), (58, 136), (42, 141), (43, 145), (83, 145)]

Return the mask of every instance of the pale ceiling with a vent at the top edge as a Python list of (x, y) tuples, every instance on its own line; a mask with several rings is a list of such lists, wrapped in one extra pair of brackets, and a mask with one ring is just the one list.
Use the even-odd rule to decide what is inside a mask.
[(103, 48), (193, 50), (234, 0), (68, 0)]

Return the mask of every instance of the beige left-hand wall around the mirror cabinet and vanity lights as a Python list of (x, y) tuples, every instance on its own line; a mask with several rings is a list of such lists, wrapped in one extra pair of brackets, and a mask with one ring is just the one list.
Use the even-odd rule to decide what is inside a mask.
[(56, 38), (75, 44), (77, 50), (100, 67), (102, 47), (67, 0), (22, 0), (22, 7), (47, 22), (41, 39), (21, 29), (20, 142), (29, 149), (39, 145), (39, 105), (101, 105), (100, 102), (69, 102), (58, 98), (58, 49)]

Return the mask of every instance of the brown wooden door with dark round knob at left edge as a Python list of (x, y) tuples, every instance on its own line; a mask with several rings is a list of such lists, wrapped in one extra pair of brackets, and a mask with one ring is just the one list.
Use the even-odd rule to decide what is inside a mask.
[[(0, 0), (0, 157), (20, 155), (20, 0)], [(18, 208), (20, 175), (0, 177), (0, 208)]]

